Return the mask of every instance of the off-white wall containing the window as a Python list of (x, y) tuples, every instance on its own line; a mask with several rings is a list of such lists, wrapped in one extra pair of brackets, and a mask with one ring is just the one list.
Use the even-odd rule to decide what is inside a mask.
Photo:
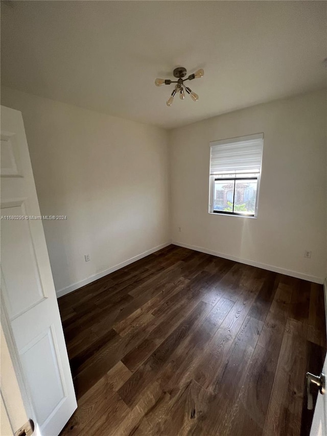
[[(324, 91), (316, 91), (172, 130), (173, 242), (322, 283), (327, 272), (325, 98)], [(209, 142), (260, 132), (258, 218), (209, 214)], [(305, 249), (312, 250), (311, 259), (303, 257)]]

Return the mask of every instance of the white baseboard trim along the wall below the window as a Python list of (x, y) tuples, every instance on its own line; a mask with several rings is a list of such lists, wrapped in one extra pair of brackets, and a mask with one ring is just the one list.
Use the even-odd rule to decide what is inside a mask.
[[(267, 269), (268, 271), (279, 272), (285, 274), (286, 276), (296, 277), (297, 279), (308, 280), (314, 283), (323, 283), (323, 279), (316, 276), (309, 276), (308, 274), (303, 274), (302, 272), (292, 271), (290, 269), (280, 268), (279, 266), (267, 265), (261, 262), (255, 262), (253, 260), (239, 258), (236, 256), (229, 256), (224, 253), (218, 253), (218, 251), (208, 250), (207, 248), (197, 247), (196, 245), (184, 244), (183, 242), (173, 241), (172, 244), (178, 245), (179, 247), (190, 248), (191, 250), (201, 251), (201, 253), (206, 253), (207, 255), (213, 255), (221, 257), (223, 259), (233, 260), (235, 262), (245, 263), (246, 265), (256, 266), (258, 268)], [(326, 295), (326, 294), (325, 294)]]

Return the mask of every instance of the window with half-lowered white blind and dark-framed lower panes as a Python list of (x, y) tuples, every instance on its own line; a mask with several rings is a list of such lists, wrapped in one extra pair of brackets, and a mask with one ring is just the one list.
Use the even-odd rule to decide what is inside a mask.
[(263, 136), (210, 143), (210, 213), (256, 217)]

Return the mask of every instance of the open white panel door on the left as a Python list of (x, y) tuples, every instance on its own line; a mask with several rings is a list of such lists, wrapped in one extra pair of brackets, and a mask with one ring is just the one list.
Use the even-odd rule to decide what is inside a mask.
[(20, 112), (4, 106), (0, 174), (1, 290), (16, 371), (38, 432), (57, 436), (77, 403), (42, 220), (29, 219), (40, 210), (24, 124)]

